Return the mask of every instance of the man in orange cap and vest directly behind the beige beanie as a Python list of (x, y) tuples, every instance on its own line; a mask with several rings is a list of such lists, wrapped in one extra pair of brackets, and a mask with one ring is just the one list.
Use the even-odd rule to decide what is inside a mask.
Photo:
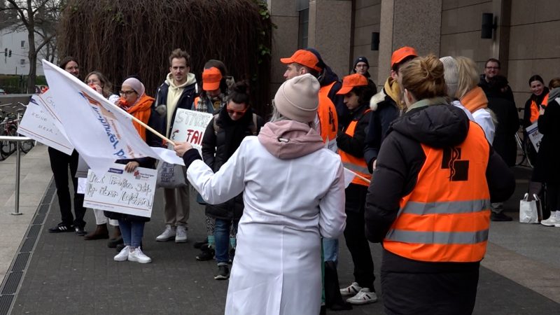
[[(286, 64), (286, 72), (284, 72), (284, 78), (286, 80), (301, 76), (305, 73), (310, 73), (315, 78), (319, 78), (325, 66), (324, 62), (321, 62), (313, 52), (305, 49), (296, 50), (291, 57), (281, 58), (280, 61)], [(331, 87), (332, 84), (321, 85), (315, 125), (317, 126), (317, 132), (321, 134), (326, 146), (330, 150), (336, 152), (338, 117), (335, 104), (328, 97), (328, 92)]]

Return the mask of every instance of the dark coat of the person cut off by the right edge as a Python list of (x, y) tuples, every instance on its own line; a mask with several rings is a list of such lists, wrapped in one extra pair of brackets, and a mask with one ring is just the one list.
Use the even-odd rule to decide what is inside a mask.
[[(542, 134), (535, 172), (545, 183), (560, 184), (560, 104), (548, 102), (545, 113), (538, 118), (538, 131)], [(538, 171), (540, 169), (540, 171)]]

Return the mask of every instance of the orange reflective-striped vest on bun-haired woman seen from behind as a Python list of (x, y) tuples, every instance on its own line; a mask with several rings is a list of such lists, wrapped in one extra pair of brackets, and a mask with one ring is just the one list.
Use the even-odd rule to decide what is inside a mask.
[(430, 148), (412, 193), (402, 197), (385, 236), (387, 251), (424, 262), (477, 262), (486, 253), (490, 193), (486, 183), (489, 144), (470, 122), (454, 148)]

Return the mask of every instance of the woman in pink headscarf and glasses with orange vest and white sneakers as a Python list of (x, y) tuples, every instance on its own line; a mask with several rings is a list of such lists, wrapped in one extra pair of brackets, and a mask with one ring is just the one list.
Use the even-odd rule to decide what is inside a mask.
[[(137, 78), (127, 78), (120, 88), (120, 99), (117, 105), (127, 111), (143, 123), (148, 123), (151, 114), (153, 97), (146, 95), (144, 84)], [(146, 128), (139, 123), (132, 122), (140, 137), (146, 141)], [(150, 144), (157, 146), (156, 144)], [(153, 158), (137, 158), (134, 160), (118, 160), (117, 163), (125, 164), (126, 172), (134, 172), (137, 167), (154, 168)], [(132, 216), (131, 214), (118, 214), (116, 212), (105, 211), (108, 218), (118, 220), (120, 232), (123, 235), (125, 248), (115, 256), (115, 261), (136, 261), (140, 263), (151, 262), (152, 259), (144, 254), (140, 248), (142, 236), (144, 235), (144, 224), (150, 218), (143, 216)]]

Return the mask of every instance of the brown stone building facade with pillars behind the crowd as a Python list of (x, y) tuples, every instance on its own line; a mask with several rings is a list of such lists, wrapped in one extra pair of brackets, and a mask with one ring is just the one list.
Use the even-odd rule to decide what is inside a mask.
[[(517, 107), (531, 94), (528, 78), (545, 84), (560, 77), (560, 1), (556, 0), (267, 0), (273, 31), (272, 91), (283, 82), (281, 57), (316, 48), (340, 78), (356, 57), (367, 57), (382, 85), (393, 50), (409, 45), (420, 55), (500, 59)], [(483, 13), (491, 13), (491, 38), (481, 38)], [(488, 18), (489, 15), (486, 15)], [(494, 24), (495, 27), (491, 27)], [(377, 42), (379, 40), (379, 42)]]

